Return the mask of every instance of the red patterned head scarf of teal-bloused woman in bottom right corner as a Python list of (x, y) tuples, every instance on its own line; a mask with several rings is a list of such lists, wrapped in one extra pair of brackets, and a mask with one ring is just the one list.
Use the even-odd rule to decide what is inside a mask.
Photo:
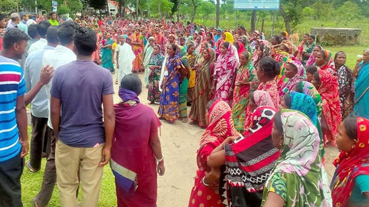
[[(333, 161), (336, 166), (331, 189), (333, 206), (346, 206), (358, 175), (369, 175), (369, 120), (357, 118), (357, 142), (349, 153), (341, 151)], [(354, 138), (354, 137), (351, 137)]]

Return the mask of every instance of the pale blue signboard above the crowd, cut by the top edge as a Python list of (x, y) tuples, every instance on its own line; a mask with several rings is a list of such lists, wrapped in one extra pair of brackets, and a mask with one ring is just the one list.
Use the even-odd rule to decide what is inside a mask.
[(236, 10), (279, 10), (280, 0), (234, 0)]

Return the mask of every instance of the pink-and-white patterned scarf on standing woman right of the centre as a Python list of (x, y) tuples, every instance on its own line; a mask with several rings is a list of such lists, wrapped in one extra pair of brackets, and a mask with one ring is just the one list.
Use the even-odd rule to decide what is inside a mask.
[[(214, 75), (222, 73), (222, 76), (218, 77), (216, 84), (216, 91), (228, 80), (228, 77), (232, 77), (234, 70), (238, 67), (238, 61), (236, 59), (235, 51), (230, 43), (225, 54), (220, 54), (215, 64)], [(232, 73), (224, 75), (224, 73)]]

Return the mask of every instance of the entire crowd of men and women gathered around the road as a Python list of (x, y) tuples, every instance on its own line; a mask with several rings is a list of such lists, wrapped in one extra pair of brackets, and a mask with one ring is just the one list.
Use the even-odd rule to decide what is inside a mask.
[[(62, 206), (76, 205), (79, 183), (81, 204), (97, 206), (109, 162), (118, 206), (156, 206), (160, 120), (206, 129), (188, 206), (369, 206), (369, 49), (351, 70), (314, 34), (296, 46), (242, 25), (48, 17), (0, 15), (1, 206), (22, 205), (30, 103), (25, 166), (37, 172), (47, 157), (34, 206), (55, 182)], [(341, 151), (331, 185), (328, 144)]]

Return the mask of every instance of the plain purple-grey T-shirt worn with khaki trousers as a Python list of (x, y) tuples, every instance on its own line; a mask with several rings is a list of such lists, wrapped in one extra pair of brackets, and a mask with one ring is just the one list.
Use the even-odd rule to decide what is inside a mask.
[(72, 147), (105, 142), (102, 97), (114, 94), (110, 72), (92, 61), (73, 61), (55, 71), (51, 96), (61, 100), (59, 139)]

